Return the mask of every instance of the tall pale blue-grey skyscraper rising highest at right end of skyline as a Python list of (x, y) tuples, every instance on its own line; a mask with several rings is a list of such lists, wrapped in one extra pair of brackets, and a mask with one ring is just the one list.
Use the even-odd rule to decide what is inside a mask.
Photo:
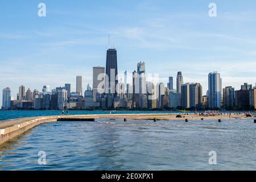
[(208, 75), (209, 108), (220, 108), (222, 97), (222, 80), (220, 73), (212, 72)]

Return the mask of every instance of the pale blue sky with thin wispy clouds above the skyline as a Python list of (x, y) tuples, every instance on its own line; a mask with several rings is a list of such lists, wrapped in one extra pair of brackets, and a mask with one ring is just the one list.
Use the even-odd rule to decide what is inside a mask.
[[(38, 16), (41, 2), (46, 17)], [(216, 17), (209, 3), (216, 3)], [(203, 94), (213, 71), (222, 87), (255, 85), (255, 10), (255, 0), (1, 0), (0, 106), (6, 87), (13, 97), (20, 85), (41, 91), (68, 82), (75, 91), (81, 75), (85, 90), (93, 66), (106, 64), (108, 35), (119, 73), (144, 61), (146, 73), (158, 73), (164, 84), (181, 71), (184, 82), (200, 82)]]

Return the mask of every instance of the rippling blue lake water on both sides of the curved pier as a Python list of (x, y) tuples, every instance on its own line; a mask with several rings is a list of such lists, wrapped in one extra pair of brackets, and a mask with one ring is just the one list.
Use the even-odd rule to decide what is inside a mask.
[[(10, 118), (30, 112), (13, 111)], [(46, 152), (46, 164), (38, 164), (39, 151)], [(217, 165), (208, 163), (210, 151), (216, 151)], [(0, 170), (17, 169), (256, 170), (256, 124), (253, 119), (46, 123), (1, 146)]]

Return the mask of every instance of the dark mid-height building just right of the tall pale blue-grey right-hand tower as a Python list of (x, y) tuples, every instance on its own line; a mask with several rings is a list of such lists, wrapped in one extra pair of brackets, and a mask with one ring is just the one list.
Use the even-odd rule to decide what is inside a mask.
[(235, 105), (235, 90), (232, 86), (223, 89), (223, 106), (225, 109)]

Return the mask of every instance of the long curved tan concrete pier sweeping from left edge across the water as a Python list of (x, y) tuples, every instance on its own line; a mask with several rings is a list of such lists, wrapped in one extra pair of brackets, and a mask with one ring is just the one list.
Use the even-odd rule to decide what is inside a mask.
[[(30, 117), (18, 118), (7, 121), (0, 121), (0, 144), (5, 143), (25, 131), (32, 129), (35, 126), (48, 122), (56, 121), (95, 121), (97, 118), (110, 119), (150, 119), (154, 121), (168, 121), (168, 120), (183, 120), (184, 118), (176, 118), (177, 114), (87, 114), (87, 115), (55, 115), (46, 117)], [(186, 117), (186, 120), (200, 120), (202, 116), (195, 114), (180, 114)], [(218, 116), (218, 118), (228, 118), (227, 116)], [(216, 119), (216, 117), (205, 117), (204, 119)]]

